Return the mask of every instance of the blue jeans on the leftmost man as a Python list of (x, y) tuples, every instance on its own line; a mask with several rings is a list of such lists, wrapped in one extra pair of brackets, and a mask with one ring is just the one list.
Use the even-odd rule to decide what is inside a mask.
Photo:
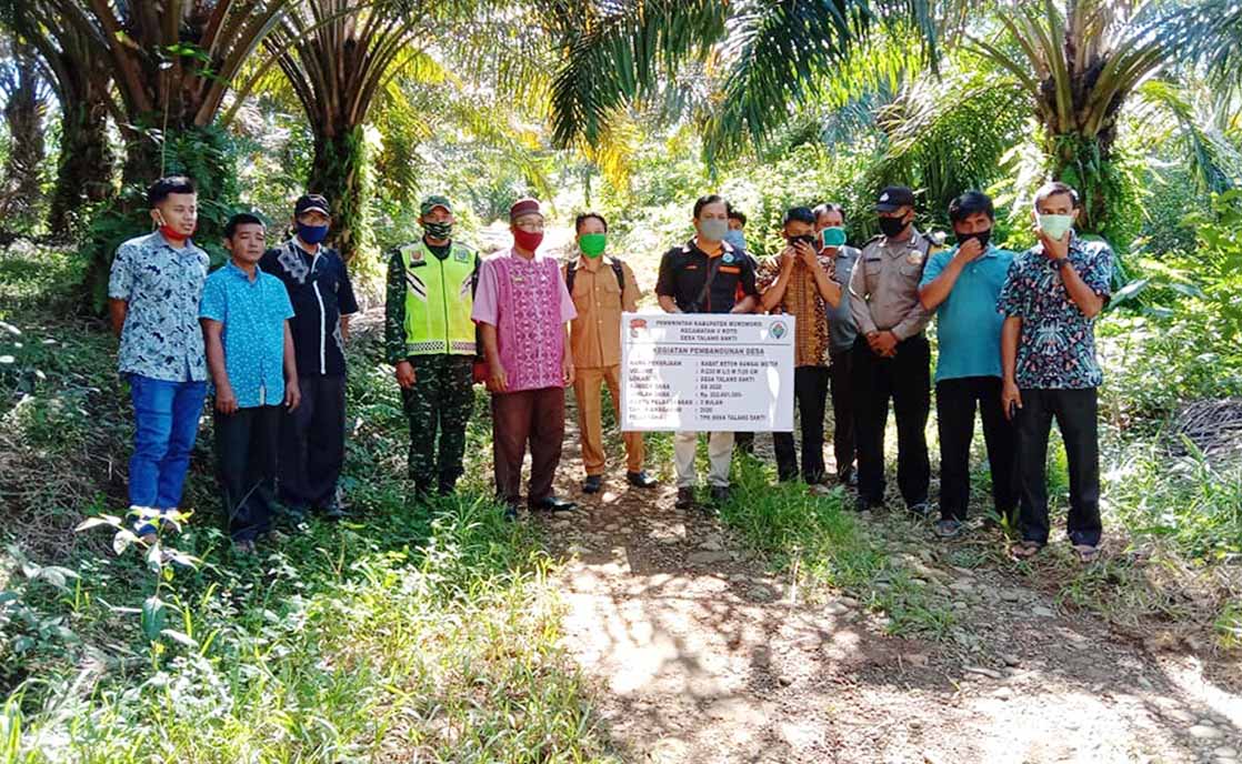
[(181, 501), (207, 383), (171, 383), (132, 374), (129, 390), (134, 401), (129, 503), (171, 509)]

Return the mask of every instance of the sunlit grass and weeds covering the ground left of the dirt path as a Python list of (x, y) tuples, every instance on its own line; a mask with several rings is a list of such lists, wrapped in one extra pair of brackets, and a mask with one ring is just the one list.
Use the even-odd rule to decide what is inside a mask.
[[(558, 647), (539, 539), (502, 519), (473, 462), (460, 497), (410, 498), (374, 335), (351, 350), (351, 519), (236, 557), (206, 424), (197, 513), (161, 539), (184, 565), (73, 533), (124, 506), (114, 340), (0, 297), (0, 762), (611, 760)], [(471, 455), (488, 427), (479, 406)]]

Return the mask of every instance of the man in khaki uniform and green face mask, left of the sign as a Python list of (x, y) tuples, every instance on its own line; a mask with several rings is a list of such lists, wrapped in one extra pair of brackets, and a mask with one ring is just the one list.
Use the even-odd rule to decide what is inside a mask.
[[(597, 493), (604, 484), (604, 425), (600, 388), (607, 383), (612, 406), (620, 416), (621, 401), (621, 312), (638, 307), (638, 283), (630, 266), (606, 256), (609, 224), (597, 212), (584, 212), (574, 222), (579, 257), (565, 266), (565, 284), (578, 308), (570, 324), (570, 343), (578, 376), (578, 427), (582, 439), (585, 493)], [(643, 468), (642, 432), (623, 432), (626, 477), (630, 484), (651, 488), (656, 480)]]

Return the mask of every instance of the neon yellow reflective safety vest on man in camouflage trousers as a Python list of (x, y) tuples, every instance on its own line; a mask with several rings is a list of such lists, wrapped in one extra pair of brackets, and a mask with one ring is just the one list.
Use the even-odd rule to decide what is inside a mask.
[(401, 247), (405, 265), (405, 352), (409, 355), (474, 355), (478, 255), (456, 241), (440, 260), (426, 242)]

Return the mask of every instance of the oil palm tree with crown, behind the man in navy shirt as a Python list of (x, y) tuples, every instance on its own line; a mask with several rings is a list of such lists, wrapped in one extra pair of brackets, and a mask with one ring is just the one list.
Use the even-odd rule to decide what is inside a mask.
[[(479, 0), (376, 0), (363, 6), (303, 0), (266, 39), (314, 134), (307, 186), (332, 200), (333, 239), (347, 260), (369, 243), (365, 125), (376, 103), (392, 94), (395, 78), (404, 73), (446, 96), (421, 114), (430, 125), (455, 117), (462, 122), (461, 99), (447, 96), (463, 77), (487, 71), (502, 77), (505, 88), (539, 78), (532, 58), (523, 56), (527, 47), (494, 50), (494, 36), (512, 16), (492, 15), (502, 10), (502, 4)], [(451, 47), (446, 41), (453, 41)], [(479, 128), (488, 121), (466, 122)]]

